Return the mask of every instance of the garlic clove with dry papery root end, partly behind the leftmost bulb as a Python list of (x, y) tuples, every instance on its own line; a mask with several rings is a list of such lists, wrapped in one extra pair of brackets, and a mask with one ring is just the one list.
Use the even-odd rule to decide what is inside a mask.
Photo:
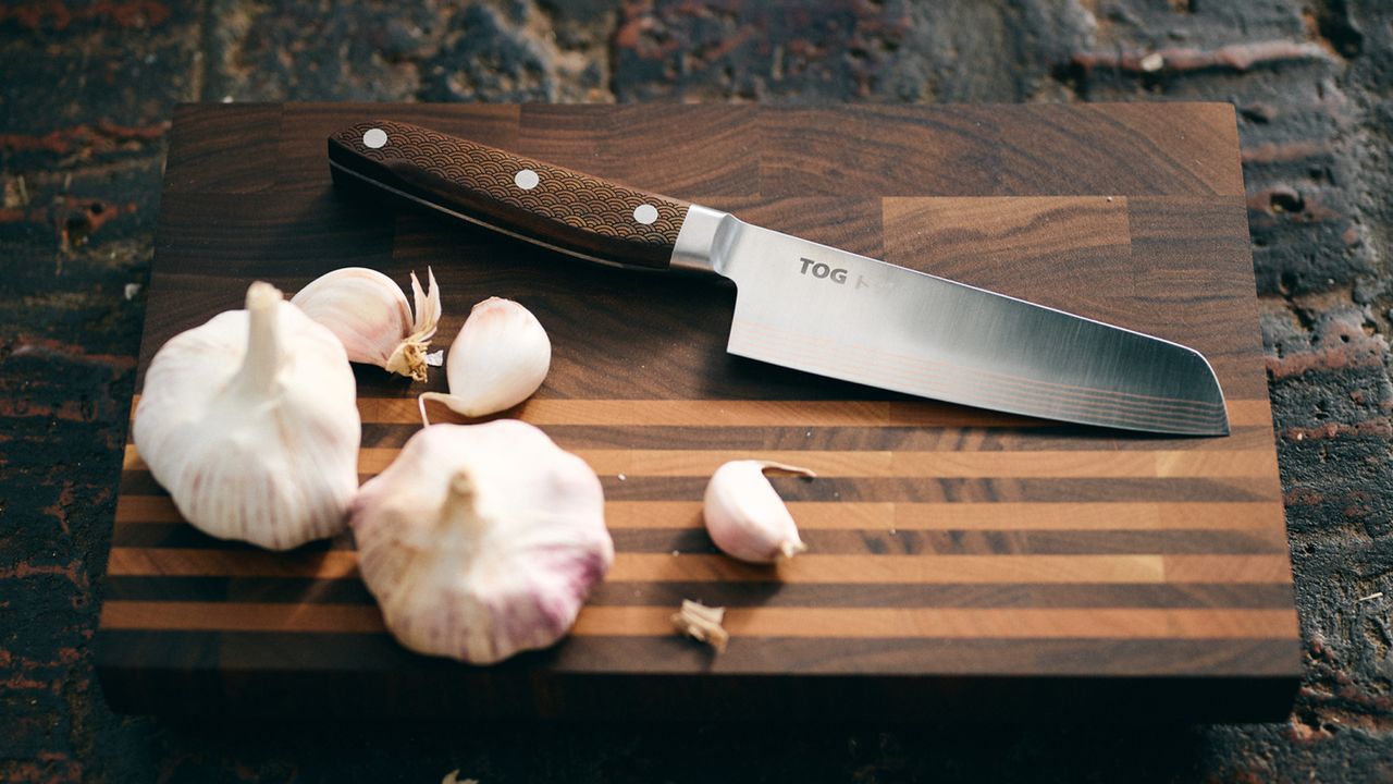
[(426, 269), (430, 294), (411, 273), (417, 317), (391, 278), (376, 269), (345, 266), (320, 275), (290, 300), (305, 315), (343, 340), (348, 361), (375, 364), (389, 372), (426, 379), (426, 349), (440, 321), (440, 289)]

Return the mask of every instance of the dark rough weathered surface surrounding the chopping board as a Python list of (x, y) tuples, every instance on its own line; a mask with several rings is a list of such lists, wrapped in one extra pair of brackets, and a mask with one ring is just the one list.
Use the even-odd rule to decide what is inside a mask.
[[(1293, 716), (1126, 730), (111, 714), (89, 642), (171, 106), (290, 99), (1233, 102), (1307, 640)], [(0, 781), (1393, 780), (1390, 155), (1389, 0), (6, 0)]]

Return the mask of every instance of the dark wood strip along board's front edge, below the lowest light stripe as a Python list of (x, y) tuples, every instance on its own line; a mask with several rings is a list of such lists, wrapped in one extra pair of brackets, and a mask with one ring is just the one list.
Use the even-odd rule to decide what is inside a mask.
[[(447, 660), (417, 656), (384, 633), (276, 632), (150, 632), (103, 628), (98, 647), (103, 668), (199, 670), (217, 660), (192, 658), (194, 650), (220, 651), (221, 665), (237, 670), (280, 670), (305, 678), (315, 672), (352, 671), (359, 675), (423, 668), (435, 678), (465, 677), (476, 671)], [(1137, 675), (1201, 674), (1237, 677), (1295, 677), (1300, 640), (1013, 640), (1013, 639), (879, 639), (808, 640), (747, 639), (713, 657), (705, 646), (664, 638), (568, 638), (549, 651), (528, 653), (483, 668), (497, 677), (534, 678), (538, 667), (554, 675), (625, 671), (667, 674), (768, 674), (770, 661), (795, 672), (855, 672), (876, 661), (889, 675)], [(783, 677), (780, 677), (783, 678)], [(703, 686), (709, 684), (703, 681)], [(449, 688), (450, 679), (436, 688)], [(805, 679), (797, 679), (808, 686)]]

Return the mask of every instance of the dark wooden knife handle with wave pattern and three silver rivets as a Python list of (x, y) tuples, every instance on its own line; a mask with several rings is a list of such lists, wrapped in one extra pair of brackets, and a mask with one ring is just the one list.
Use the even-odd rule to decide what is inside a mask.
[(691, 206), (407, 123), (329, 137), (337, 184), (368, 184), (593, 261), (666, 268)]

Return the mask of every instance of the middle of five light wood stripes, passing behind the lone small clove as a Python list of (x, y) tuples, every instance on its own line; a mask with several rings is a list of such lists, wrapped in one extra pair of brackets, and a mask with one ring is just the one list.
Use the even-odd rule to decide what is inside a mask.
[[(699, 501), (607, 501), (605, 523), (623, 529), (696, 529)], [(794, 501), (788, 511), (808, 530), (1275, 530), (1282, 504), (894, 504)], [(123, 495), (117, 525), (177, 523), (182, 518), (166, 495)]]

